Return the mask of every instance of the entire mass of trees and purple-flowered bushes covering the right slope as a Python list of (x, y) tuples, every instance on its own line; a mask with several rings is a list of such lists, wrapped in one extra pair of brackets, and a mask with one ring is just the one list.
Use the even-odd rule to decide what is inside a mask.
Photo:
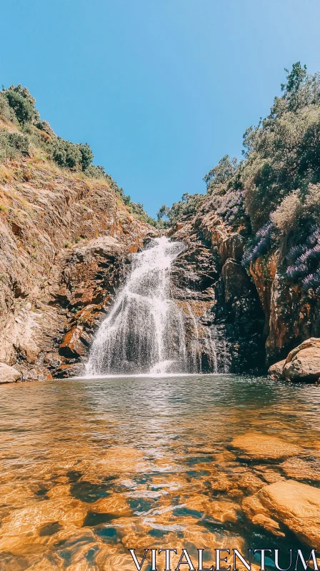
[(246, 227), (245, 266), (277, 249), (286, 277), (320, 295), (320, 75), (297, 62), (281, 91), (244, 133), (243, 160), (224, 156), (204, 177), (206, 201), (234, 229)]

